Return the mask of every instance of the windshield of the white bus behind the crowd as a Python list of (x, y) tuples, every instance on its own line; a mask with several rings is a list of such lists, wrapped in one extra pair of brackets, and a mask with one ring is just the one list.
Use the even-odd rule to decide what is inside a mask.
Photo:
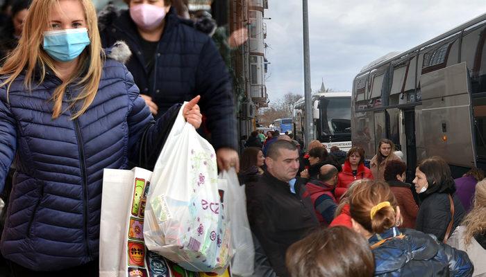
[[(328, 126), (323, 126), (324, 134), (349, 135), (351, 133), (351, 98), (324, 98), (321, 110)], [(324, 120), (323, 120), (324, 122)]]

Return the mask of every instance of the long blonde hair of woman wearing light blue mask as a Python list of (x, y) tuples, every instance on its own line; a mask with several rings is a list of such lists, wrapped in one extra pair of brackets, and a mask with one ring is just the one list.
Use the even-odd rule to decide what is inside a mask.
[[(56, 5), (59, 5), (59, 1), (63, 0), (33, 0), (24, 20), (24, 28), (22, 30), (22, 37), (19, 39), (19, 44), (8, 55), (6, 62), (0, 69), (0, 75), (6, 75), (5, 80), (0, 86), (8, 85), (7, 93), (15, 79), (24, 73), (24, 71), (24, 85), (29, 91), (32, 89), (37, 67), (40, 69), (39, 84), (44, 82), (47, 69), (59, 75), (54, 66), (54, 60), (42, 48), (44, 31), (49, 28), (50, 12)], [(98, 91), (101, 74), (103, 73), (103, 60), (105, 57), (101, 48), (96, 10), (91, 0), (78, 1), (81, 1), (85, 12), (90, 45), (81, 53), (76, 73), (70, 76), (68, 80), (62, 82), (54, 90), (51, 98), (54, 102), (52, 118), (58, 118), (62, 114), (62, 97), (64, 96), (65, 90), (69, 84), (74, 83), (74, 80), (78, 78), (81, 78), (81, 80), (76, 82), (76, 84), (82, 87), (82, 91), (74, 98), (74, 101), (69, 107), (72, 107), (78, 101), (83, 101), (81, 109), (72, 118), (81, 116), (93, 102)], [(81, 76), (85, 64), (89, 66), (87, 67), (86, 74)]]

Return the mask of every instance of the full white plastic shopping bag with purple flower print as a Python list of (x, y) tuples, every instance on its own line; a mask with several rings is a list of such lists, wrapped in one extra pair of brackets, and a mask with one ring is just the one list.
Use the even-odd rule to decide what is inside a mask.
[(146, 247), (191, 271), (224, 272), (231, 235), (218, 193), (215, 150), (179, 111), (153, 170)]

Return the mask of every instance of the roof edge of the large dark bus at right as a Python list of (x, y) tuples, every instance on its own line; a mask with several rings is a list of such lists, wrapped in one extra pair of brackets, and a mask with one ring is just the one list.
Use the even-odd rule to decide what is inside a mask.
[[(408, 51), (405, 51), (403, 53), (400, 53), (398, 55), (393, 55), (392, 57), (389, 57), (383, 61), (380, 61), (378, 63), (375, 63), (374, 62), (371, 62), (371, 64), (369, 64), (369, 66), (364, 66), (364, 68), (360, 71), (360, 73), (356, 74), (355, 75), (355, 78), (356, 79), (358, 76), (362, 75), (364, 72), (366, 71), (369, 71), (370, 69), (376, 69), (380, 66), (382, 66), (383, 64), (387, 64), (388, 62), (391, 62), (392, 60), (395, 60), (396, 57), (403, 57), (405, 55), (408, 55), (414, 51), (417, 51), (417, 50), (420, 50), (421, 48), (425, 47), (425, 46), (428, 46), (430, 44), (433, 44), (434, 42), (437, 42), (441, 39), (445, 39), (446, 37), (449, 37), (451, 35), (454, 35), (455, 33), (458, 33), (462, 30), (464, 30), (464, 28), (468, 28), (470, 26), (474, 26), (475, 24), (478, 24), (480, 23), (481, 21), (485, 21), (486, 20), (486, 13), (483, 14), (483, 15), (480, 15), (474, 19), (471, 19), (469, 21), (467, 21), (466, 23), (464, 24), (461, 24), (460, 26), (457, 26), (455, 28), (453, 28), (452, 30), (449, 30), (448, 32), (446, 33), (443, 33), (442, 35), (438, 35), (437, 37), (434, 37), (433, 39), (429, 39), (428, 41), (420, 44), (419, 46), (415, 46), (414, 48), (408, 50)], [(378, 58), (378, 60), (380, 60), (380, 58)], [(354, 80), (353, 79), (353, 80)]]

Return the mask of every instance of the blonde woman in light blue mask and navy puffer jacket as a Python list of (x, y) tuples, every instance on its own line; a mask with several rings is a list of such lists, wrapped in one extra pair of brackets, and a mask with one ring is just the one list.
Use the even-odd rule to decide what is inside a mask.
[(17, 170), (1, 253), (13, 276), (97, 276), (103, 168), (128, 168), (167, 116), (110, 58), (126, 46), (101, 49), (91, 0), (34, 0), (23, 34), (0, 70), (1, 188), (14, 156)]

